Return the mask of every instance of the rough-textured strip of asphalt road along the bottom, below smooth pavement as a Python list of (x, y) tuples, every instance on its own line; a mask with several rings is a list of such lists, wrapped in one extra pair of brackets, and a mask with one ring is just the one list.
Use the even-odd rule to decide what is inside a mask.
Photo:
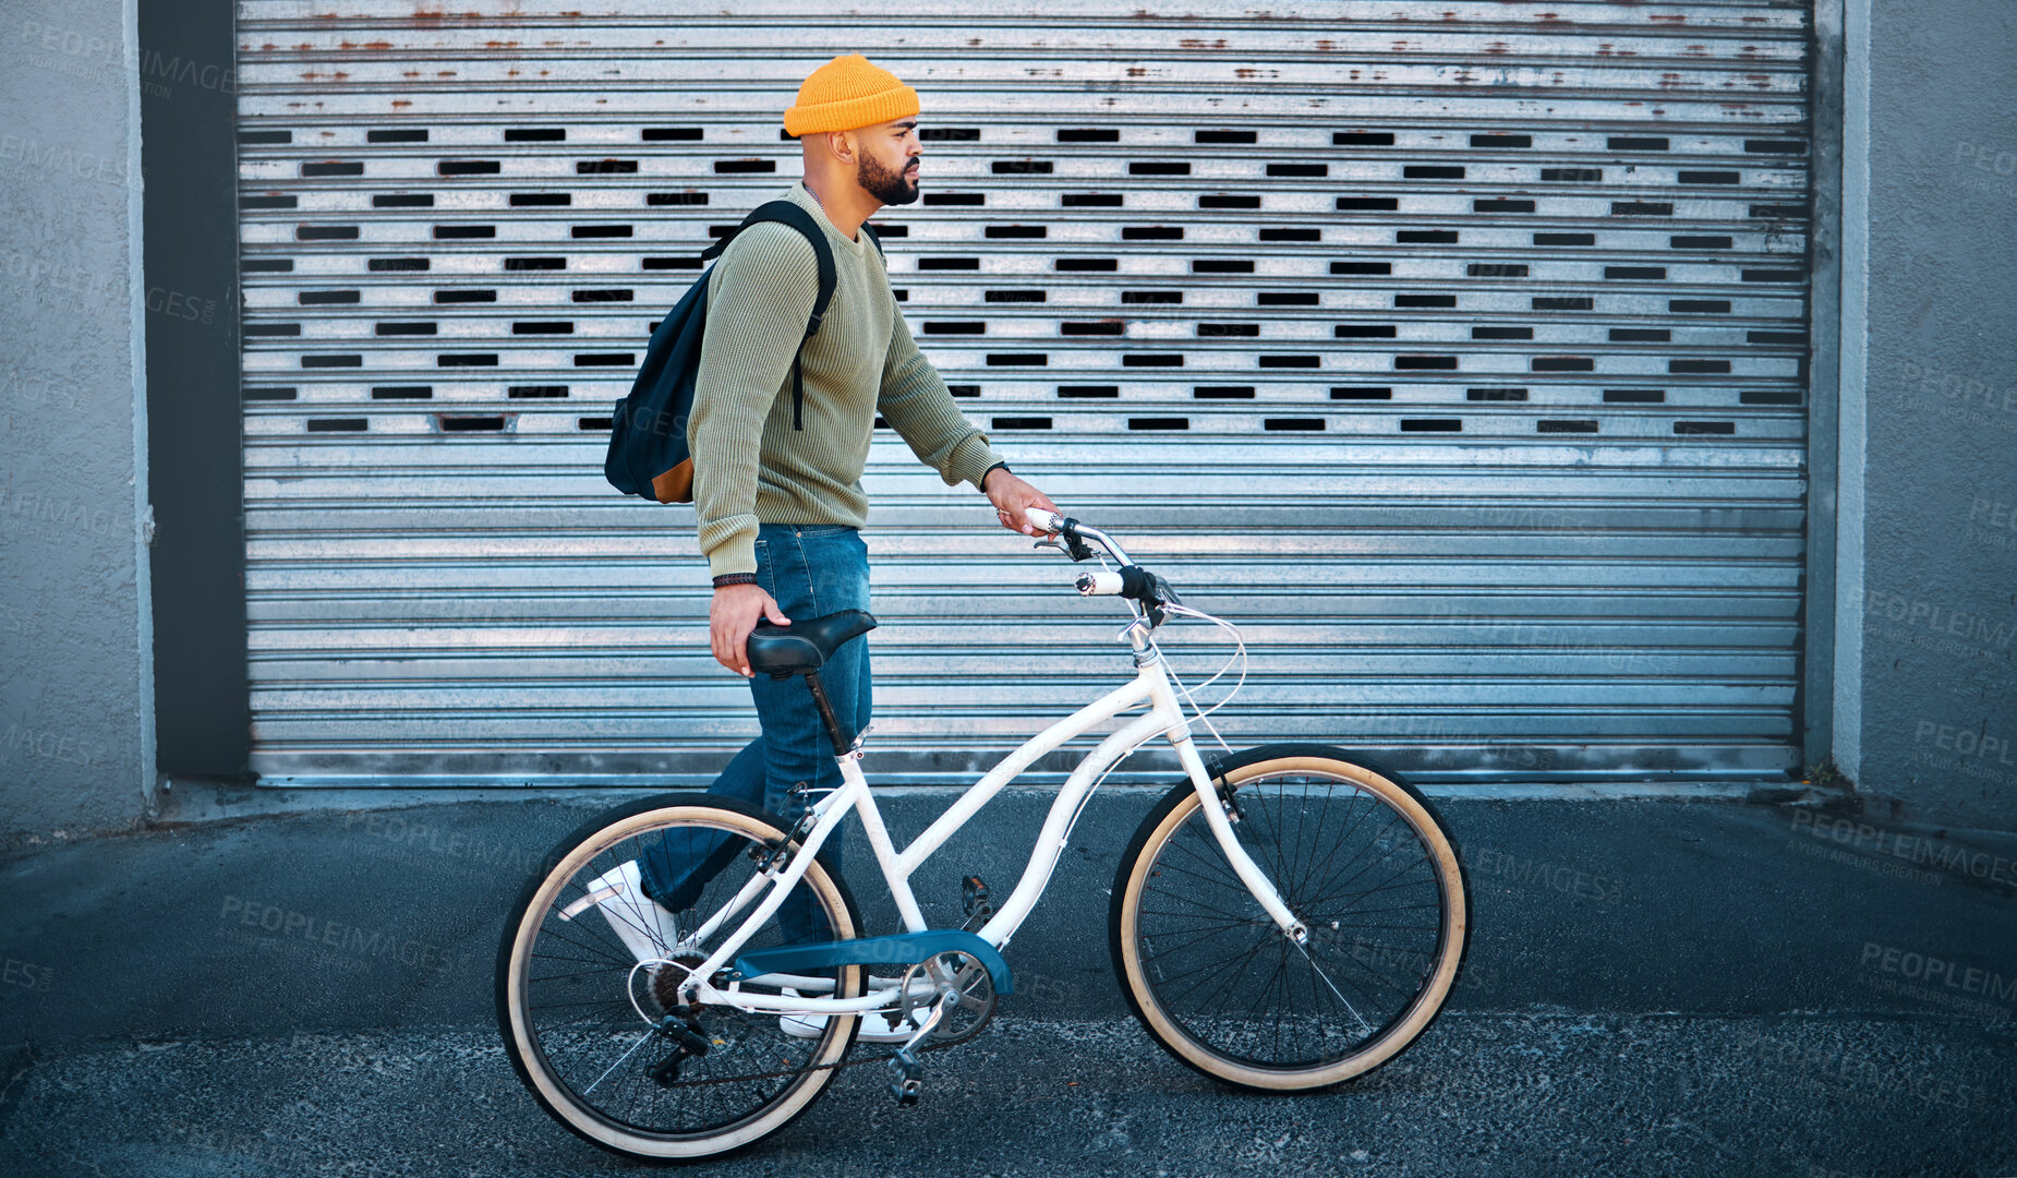
[[(918, 1107), (853, 1067), (781, 1134), (680, 1172), (2017, 1174), (2017, 1037), (1942, 1019), (1452, 1015), (1297, 1097), (1218, 1087), (1125, 1021), (1000, 1019), (926, 1059)], [(95, 1045), (6, 1101), (16, 1178), (656, 1172), (549, 1122), (484, 1029)]]

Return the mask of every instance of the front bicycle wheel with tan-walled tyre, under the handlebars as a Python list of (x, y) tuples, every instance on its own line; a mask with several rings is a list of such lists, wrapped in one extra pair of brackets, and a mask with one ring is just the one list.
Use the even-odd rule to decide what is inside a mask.
[(1130, 1009), (1220, 1081), (1303, 1091), (1380, 1067), (1456, 984), (1468, 896), (1456, 845), (1392, 773), (1313, 744), (1220, 764), (1240, 847), (1309, 938), (1295, 944), (1234, 875), (1186, 781), (1121, 855), (1109, 908)]

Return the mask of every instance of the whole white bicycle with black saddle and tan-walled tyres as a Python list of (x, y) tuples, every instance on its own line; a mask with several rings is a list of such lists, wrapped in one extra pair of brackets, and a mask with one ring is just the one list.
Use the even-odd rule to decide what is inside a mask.
[[(752, 670), (805, 676), (843, 785), (797, 823), (706, 793), (647, 797), (555, 847), (504, 922), (496, 968), (506, 1053), (555, 1120), (633, 1158), (718, 1156), (803, 1113), (849, 1063), (865, 1017), (889, 1027), (879, 1039), (902, 1039), (873, 1061), (889, 1061), (894, 1095), (914, 1103), (920, 1053), (974, 1037), (1013, 990), (1000, 950), (1081, 807), (1156, 736), (1186, 777), (1136, 831), (1109, 908), (1113, 972), (1150, 1037), (1220, 1081), (1307, 1091), (1380, 1067), (1428, 1029), (1470, 932), (1462, 863), (1436, 811), (1398, 775), (1323, 744), (1200, 754), (1190, 720), (1216, 736), (1208, 714), (1224, 700), (1198, 708), (1156, 629), (1174, 617), (1224, 627), (1244, 682), (1238, 631), (1186, 607), (1111, 537), (1051, 512), (1031, 510), (1031, 522), (1073, 561), (1099, 559), (1077, 589), (1128, 603), (1119, 637), (1136, 678), (1033, 736), (898, 849), (861, 775), (861, 738), (839, 730), (819, 684), (819, 668), (875, 619), (845, 611), (750, 635)], [(1000, 908), (966, 879), (966, 926), (928, 928), (910, 886), (918, 867), (1039, 756), (1142, 706), (1059, 789)], [(906, 932), (863, 936), (821, 855), (849, 813)], [(688, 861), (688, 881), (643, 896), (641, 855)], [(789, 896), (791, 940), (779, 920)], [(819, 938), (805, 938), (807, 924)]]

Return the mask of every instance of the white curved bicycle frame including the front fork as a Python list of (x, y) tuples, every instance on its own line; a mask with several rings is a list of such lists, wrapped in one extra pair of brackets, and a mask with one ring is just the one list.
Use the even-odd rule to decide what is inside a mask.
[(896, 908), (904, 918), (904, 928), (908, 932), (926, 932), (928, 926), (924, 922), (924, 914), (918, 910), (918, 898), (910, 888), (912, 873), (916, 873), (918, 867), (946, 843), (946, 839), (964, 827), (966, 821), (980, 811), (980, 807), (992, 801), (994, 795), (998, 795), (1039, 756), (1061, 748), (1071, 738), (1083, 736), (1099, 724), (1142, 704), (1150, 706), (1148, 712), (1128, 720), (1107, 734), (1105, 740), (1087, 752), (1077, 769), (1071, 771), (1071, 777), (1057, 793), (1057, 801), (1051, 803), (1051, 813), (1045, 817), (1043, 829), (1037, 833), (1037, 845), (1031, 849), (1029, 865), (1025, 865), (1023, 877), (1017, 881), (1008, 900), (1000, 906), (994, 918), (978, 930), (980, 940), (986, 940), (994, 948), (1008, 946), (1008, 940), (1015, 938), (1023, 920), (1037, 906), (1045, 888), (1049, 888), (1051, 873), (1057, 869), (1057, 859), (1065, 851), (1065, 837), (1071, 823), (1077, 819), (1079, 805), (1093, 793), (1101, 777), (1113, 764), (1162, 734), (1168, 736), (1170, 744), (1176, 748), (1178, 760), (1204, 805), (1206, 825), (1216, 837), (1220, 849), (1224, 849), (1226, 861), (1232, 865), (1238, 879), (1247, 886), (1261, 908), (1267, 910), (1275, 924), (1281, 926), (1287, 936), (1301, 942), (1307, 936), (1303, 924), (1293, 912), (1289, 912), (1281, 894), (1275, 890), (1275, 884), (1269, 881), (1267, 873), (1261, 871), (1253, 857), (1240, 847), (1238, 837), (1232, 833), (1232, 823), (1226, 817), (1218, 789), (1212, 787), (1212, 779), (1204, 769), (1204, 758), (1190, 740), (1190, 724), (1184, 720), (1184, 708), (1172, 688), (1162, 652), (1154, 645), (1154, 641), (1150, 641), (1144, 627), (1134, 625), (1130, 627), (1130, 633), (1138, 666), (1138, 674), (1130, 684), (1031, 736), (1021, 748), (994, 764), (986, 777), (970, 785), (958, 801), (954, 801), (922, 835), (918, 835), (916, 841), (902, 851), (896, 849), (896, 843), (889, 839), (889, 831), (881, 821), (881, 811), (875, 805), (875, 795), (869, 791), (867, 779), (861, 775), (861, 750), (855, 748), (839, 756), (837, 760), (843, 783), (811, 807), (811, 813), (815, 815), (813, 829), (791, 861), (783, 867), (773, 863), (768, 871), (752, 875), (750, 881), (744, 884), (720, 912), (710, 916), (706, 924), (684, 938), (684, 942), (700, 944), (714, 936), (726, 922), (734, 920), (738, 912), (748, 908), (748, 904), (754, 902), (756, 896), (768, 886), (768, 896), (756, 904), (756, 910), (742, 920), (742, 924), (708, 956), (706, 962), (692, 968), (682, 990), (690, 992), (698, 1003), (728, 1005), (744, 1011), (849, 1015), (887, 1007), (894, 996), (892, 990), (900, 986), (898, 980), (875, 978), (871, 992), (861, 998), (813, 998), (807, 994), (831, 990), (833, 980), (795, 974), (764, 974), (764, 980), (770, 984), (799, 990), (799, 996), (791, 996), (744, 992), (740, 982), (730, 982), (728, 988), (716, 988), (708, 978), (726, 968), (742, 944), (748, 942), (748, 938), (754, 936), (766, 920), (770, 920), (791, 888), (805, 877), (813, 855), (817, 855), (819, 847), (823, 847), (825, 841), (839, 829), (849, 811), (857, 811), (861, 815), (861, 827), (867, 831), (869, 847), (875, 851), (875, 861), (881, 867), (883, 881), (896, 898)]

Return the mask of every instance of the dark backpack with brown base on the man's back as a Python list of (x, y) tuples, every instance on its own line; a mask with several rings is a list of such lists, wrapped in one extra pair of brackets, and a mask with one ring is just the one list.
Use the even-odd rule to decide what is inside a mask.
[[(821, 232), (813, 214), (789, 200), (773, 200), (742, 218), (742, 224), (728, 236), (708, 246), (700, 258), (714, 260), (728, 248), (728, 242), (756, 222), (781, 222), (813, 242), (819, 256), (819, 297), (813, 301), (813, 317), (805, 321), (805, 339), (819, 331), (819, 321), (833, 303), (833, 250), (827, 234)], [(875, 242), (875, 230), (861, 226), (861, 232)], [(623, 494), (635, 494), (654, 502), (694, 502), (694, 456), (686, 448), (686, 422), (694, 414), (694, 383), (700, 375), (700, 341), (708, 329), (708, 272), (686, 290), (680, 303), (666, 313), (651, 343), (637, 367), (637, 379), (629, 395), (617, 401), (609, 418), (609, 454), (603, 458), (603, 476)], [(799, 341), (805, 351), (805, 341)], [(791, 424), (803, 430), (805, 383), (799, 373), (801, 357), (791, 361)]]

